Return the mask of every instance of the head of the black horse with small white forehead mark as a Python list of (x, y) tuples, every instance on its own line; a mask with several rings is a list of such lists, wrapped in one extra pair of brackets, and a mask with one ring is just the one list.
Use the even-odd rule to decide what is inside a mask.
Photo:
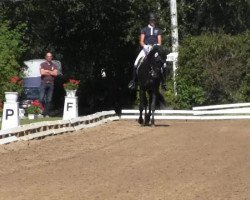
[(166, 52), (159, 45), (154, 45), (152, 50), (149, 52), (147, 59), (149, 61), (151, 69), (150, 70), (151, 76), (154, 79), (160, 78), (162, 73), (161, 72), (162, 67), (164, 63), (166, 63), (166, 56), (167, 56)]

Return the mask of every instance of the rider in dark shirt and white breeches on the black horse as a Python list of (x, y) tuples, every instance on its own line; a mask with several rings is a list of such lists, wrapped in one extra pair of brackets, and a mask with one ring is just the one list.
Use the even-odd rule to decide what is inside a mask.
[[(140, 35), (140, 46), (142, 50), (140, 51), (139, 55), (137, 56), (134, 67), (133, 67), (133, 79), (130, 81), (128, 87), (130, 89), (136, 88), (136, 71), (138, 66), (142, 63), (141, 61), (145, 58), (145, 56), (149, 53), (152, 49), (152, 46), (157, 44), (162, 44), (162, 30), (156, 27), (156, 17), (153, 13), (149, 13), (149, 24), (141, 30)], [(162, 78), (162, 88), (166, 90), (166, 83), (165, 83), (165, 75), (163, 74)]]

